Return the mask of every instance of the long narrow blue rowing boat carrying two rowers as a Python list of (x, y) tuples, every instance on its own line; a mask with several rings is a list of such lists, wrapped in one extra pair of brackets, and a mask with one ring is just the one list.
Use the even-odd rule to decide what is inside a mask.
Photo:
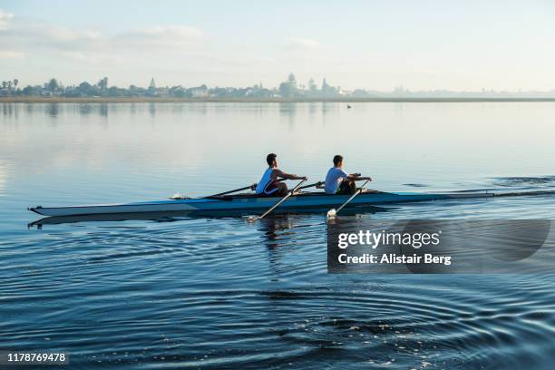
[[(458, 193), (425, 193), (425, 192), (383, 192), (364, 191), (346, 207), (366, 207), (389, 203), (404, 203), (426, 200), (452, 200), (465, 198), (493, 197), (496, 194), (487, 191)], [(348, 195), (327, 195), (324, 192), (303, 191), (292, 195), (282, 204), (281, 210), (333, 208), (349, 199)], [(44, 216), (83, 216), (114, 213), (170, 212), (186, 211), (218, 212), (236, 214), (238, 211), (263, 211), (276, 204), (279, 197), (258, 197), (254, 194), (237, 194), (211, 196), (206, 198), (187, 198), (179, 200), (139, 201), (122, 204), (99, 204), (67, 207), (30, 207), (35, 213)]]

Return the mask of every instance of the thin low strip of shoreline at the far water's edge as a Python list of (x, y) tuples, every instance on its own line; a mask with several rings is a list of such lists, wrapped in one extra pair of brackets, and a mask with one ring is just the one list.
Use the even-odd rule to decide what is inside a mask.
[(407, 98), (407, 97), (369, 97), (369, 98), (165, 98), (165, 97), (41, 97), (41, 96), (12, 96), (0, 97), (0, 102), (555, 102), (553, 98), (481, 98), (481, 97), (450, 97), (450, 98)]

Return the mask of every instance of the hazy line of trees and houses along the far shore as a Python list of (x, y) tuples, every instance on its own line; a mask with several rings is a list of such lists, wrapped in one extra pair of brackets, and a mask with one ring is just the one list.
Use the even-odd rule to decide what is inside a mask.
[(110, 86), (108, 77), (103, 77), (97, 83), (83, 83), (64, 85), (55, 78), (42, 85), (27, 84), (22, 88), (19, 79), (2, 81), (0, 86), (1, 97), (48, 97), (63, 98), (223, 98), (223, 99), (334, 99), (334, 98), (555, 98), (555, 89), (548, 91), (516, 92), (485, 90), (474, 92), (453, 92), (447, 90), (409, 91), (403, 86), (398, 86), (394, 91), (385, 93), (373, 90), (356, 89), (346, 91), (340, 86), (332, 86), (323, 79), (321, 84), (316, 84), (310, 79), (307, 85), (297, 83), (293, 73), (289, 73), (287, 80), (279, 83), (277, 88), (266, 88), (262, 83), (248, 87), (211, 87), (206, 84), (193, 87), (182, 85), (157, 87), (154, 79), (148, 87), (131, 84), (128, 88)]

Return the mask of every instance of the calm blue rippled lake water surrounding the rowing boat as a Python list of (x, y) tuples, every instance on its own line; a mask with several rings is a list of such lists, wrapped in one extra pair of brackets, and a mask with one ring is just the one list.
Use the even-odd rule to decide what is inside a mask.
[[(27, 229), (29, 206), (157, 200), (334, 154), (377, 190), (555, 190), (555, 103), (3, 103), (0, 350), (73, 368), (550, 368), (555, 274), (329, 275), (324, 214)], [(370, 219), (553, 219), (555, 197)], [(355, 217), (355, 216), (344, 216)]]

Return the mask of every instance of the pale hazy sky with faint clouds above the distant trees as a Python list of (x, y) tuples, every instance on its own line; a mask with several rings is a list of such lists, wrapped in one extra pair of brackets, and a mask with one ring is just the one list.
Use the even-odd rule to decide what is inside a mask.
[(555, 88), (553, 1), (0, 0), (0, 78)]

